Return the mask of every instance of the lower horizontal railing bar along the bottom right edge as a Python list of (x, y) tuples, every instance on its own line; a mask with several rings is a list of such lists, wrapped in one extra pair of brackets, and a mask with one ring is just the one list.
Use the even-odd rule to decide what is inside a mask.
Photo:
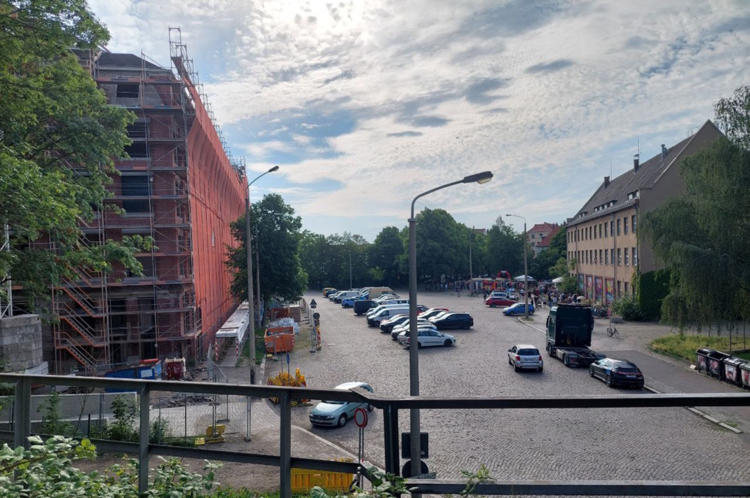
[[(407, 479), (413, 493), (458, 494), (466, 481)], [(416, 488), (416, 489), (413, 489)], [(743, 481), (495, 481), (477, 484), (472, 494), (601, 496), (748, 496)]]

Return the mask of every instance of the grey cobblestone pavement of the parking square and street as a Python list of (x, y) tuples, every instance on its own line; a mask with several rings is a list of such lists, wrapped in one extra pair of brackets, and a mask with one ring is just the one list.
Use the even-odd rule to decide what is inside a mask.
[[(420, 350), (422, 395), (583, 396), (620, 395), (589, 378), (585, 369), (568, 369), (544, 354), (543, 374), (517, 374), (505, 361), (513, 344), (543, 348), (537, 330), (504, 317), (499, 308), (484, 307), (481, 297), (452, 293), (420, 293), (419, 302), (468, 311), (475, 320), (469, 331), (449, 331), (458, 338), (451, 348)], [(409, 394), (409, 354), (390, 335), (369, 328), (364, 317), (310, 293), (319, 305), (323, 349), (309, 353), (298, 347), (291, 368), (300, 368), (308, 386), (332, 388), (362, 380), (375, 392)], [(535, 326), (543, 328), (539, 310)], [(604, 325), (600, 325), (604, 324)], [(628, 335), (617, 343), (604, 335), (598, 320), (594, 347), (633, 350), (641, 338)], [(618, 325), (618, 329), (619, 329)], [(302, 338), (303, 334), (300, 335)], [(638, 336), (640, 337), (640, 336)], [(631, 344), (632, 343), (632, 344)], [(266, 376), (281, 369), (268, 362)], [(286, 367), (286, 362), (283, 363)], [(645, 372), (648, 377), (648, 372)], [(633, 394), (628, 391), (624, 394)], [(293, 409), (293, 423), (332, 443), (357, 452), (357, 428), (313, 428), (309, 407)], [(409, 430), (409, 414), (399, 414), (401, 431)], [(460, 470), (481, 463), (502, 479), (746, 480), (750, 450), (740, 437), (699, 419), (683, 408), (607, 410), (423, 410), (422, 431), (430, 433), (427, 463), (439, 478), (458, 478)], [(365, 456), (383, 466), (383, 416), (375, 410), (365, 432)], [(402, 461), (403, 463), (403, 461)]]

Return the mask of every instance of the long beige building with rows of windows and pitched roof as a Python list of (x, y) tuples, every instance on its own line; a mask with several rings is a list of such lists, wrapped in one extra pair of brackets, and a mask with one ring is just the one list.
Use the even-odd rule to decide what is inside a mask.
[(572, 275), (578, 292), (595, 302), (612, 302), (634, 293), (635, 272), (661, 266), (651, 246), (637, 241), (638, 216), (652, 211), (664, 199), (685, 193), (679, 175), (682, 159), (706, 147), (721, 132), (706, 121), (697, 133), (667, 148), (645, 163), (636, 157), (628, 172), (604, 181), (591, 198), (568, 219), (568, 262), (575, 260)]

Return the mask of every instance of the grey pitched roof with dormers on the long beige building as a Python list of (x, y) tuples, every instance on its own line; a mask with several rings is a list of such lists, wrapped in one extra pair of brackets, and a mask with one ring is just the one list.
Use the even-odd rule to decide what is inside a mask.
[[(622, 175), (611, 179), (609, 185), (605, 186), (604, 181), (602, 181), (601, 185), (599, 185), (589, 200), (586, 201), (583, 207), (580, 208), (575, 216), (571, 218), (570, 224), (576, 225), (583, 221), (600, 217), (604, 213), (611, 214), (615, 211), (620, 211), (623, 208), (636, 204), (637, 198), (628, 199), (628, 194), (636, 192), (637, 190), (652, 187), (664, 171), (676, 162), (691, 140), (694, 139), (694, 137), (705, 127), (712, 127), (718, 133), (721, 133), (721, 131), (719, 131), (709, 119), (696, 133), (688, 136), (688, 138), (682, 140), (682, 142), (678, 142), (670, 148), (667, 148), (666, 157), (661, 157), (660, 152), (649, 160), (646, 160), (646, 162), (640, 163), (637, 170), (630, 168), (628, 171), (622, 173)], [(613, 205), (606, 207), (609, 202), (613, 202)], [(594, 211), (597, 207), (601, 208), (598, 211)], [(580, 215), (582, 213), (585, 214), (581, 217)]]

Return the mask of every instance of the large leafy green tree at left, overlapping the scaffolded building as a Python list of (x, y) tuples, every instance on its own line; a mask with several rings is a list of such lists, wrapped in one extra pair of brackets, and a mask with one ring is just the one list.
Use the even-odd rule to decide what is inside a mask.
[[(0, 224), (14, 248), (0, 251), (0, 283), (23, 286), (31, 305), (79, 267), (107, 272), (119, 261), (138, 273), (133, 255), (150, 250), (140, 238), (81, 242), (133, 115), (107, 105), (70, 48), (108, 39), (84, 1), (0, 1)], [(28, 245), (45, 236), (55, 251)]]

